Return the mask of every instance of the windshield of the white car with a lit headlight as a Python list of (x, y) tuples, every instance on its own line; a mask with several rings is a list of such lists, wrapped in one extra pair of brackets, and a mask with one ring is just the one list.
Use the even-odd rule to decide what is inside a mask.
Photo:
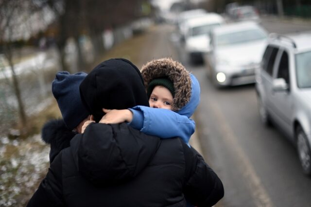
[(267, 35), (264, 32), (259, 29), (253, 29), (218, 35), (216, 36), (215, 41), (217, 46), (227, 46), (265, 38), (267, 38)]

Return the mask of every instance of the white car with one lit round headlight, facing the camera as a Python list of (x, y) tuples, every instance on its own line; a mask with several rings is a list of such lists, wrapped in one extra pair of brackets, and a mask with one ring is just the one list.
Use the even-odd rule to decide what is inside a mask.
[(255, 83), (255, 69), (259, 68), (267, 36), (255, 22), (231, 23), (213, 29), (206, 63), (214, 85)]

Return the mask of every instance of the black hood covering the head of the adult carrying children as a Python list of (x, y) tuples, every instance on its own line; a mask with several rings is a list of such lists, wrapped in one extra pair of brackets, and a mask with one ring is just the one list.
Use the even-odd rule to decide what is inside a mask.
[(149, 106), (140, 71), (122, 58), (109, 59), (96, 66), (81, 83), (80, 95), (96, 122), (104, 116), (102, 108)]

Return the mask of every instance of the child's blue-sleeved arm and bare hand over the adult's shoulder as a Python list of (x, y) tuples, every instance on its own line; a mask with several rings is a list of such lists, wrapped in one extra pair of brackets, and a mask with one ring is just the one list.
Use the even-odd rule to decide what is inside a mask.
[[(106, 110), (106, 109), (104, 109)], [(182, 138), (187, 144), (194, 133), (195, 122), (168, 109), (136, 106), (125, 110), (106, 110), (101, 123), (120, 123), (129, 125), (148, 135), (160, 138)]]

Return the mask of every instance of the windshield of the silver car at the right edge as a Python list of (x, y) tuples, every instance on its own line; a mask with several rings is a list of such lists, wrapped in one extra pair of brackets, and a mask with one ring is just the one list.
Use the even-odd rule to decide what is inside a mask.
[(311, 87), (311, 51), (296, 54), (295, 60), (298, 87)]

